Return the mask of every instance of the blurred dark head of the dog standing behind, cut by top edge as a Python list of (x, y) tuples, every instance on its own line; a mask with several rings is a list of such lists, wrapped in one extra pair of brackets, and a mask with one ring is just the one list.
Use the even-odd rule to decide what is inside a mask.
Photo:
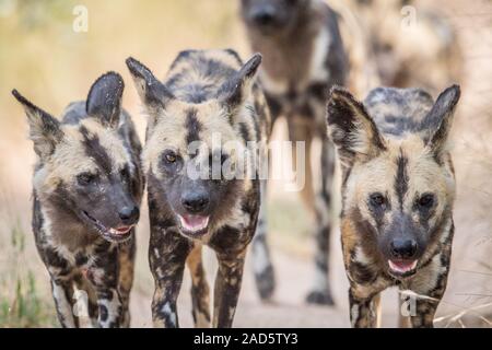
[(312, 0), (241, 0), (241, 15), (248, 28), (265, 35), (288, 33)]

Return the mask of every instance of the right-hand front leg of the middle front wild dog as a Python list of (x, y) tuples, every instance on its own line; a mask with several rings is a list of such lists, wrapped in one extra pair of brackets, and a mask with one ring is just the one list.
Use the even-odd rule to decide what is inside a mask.
[(232, 327), (243, 280), (246, 249), (218, 254), (219, 269), (213, 293), (213, 327)]

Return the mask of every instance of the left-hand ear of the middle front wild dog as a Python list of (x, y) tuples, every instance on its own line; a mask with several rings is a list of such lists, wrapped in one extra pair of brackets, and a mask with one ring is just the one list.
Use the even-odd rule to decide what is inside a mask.
[(154, 77), (149, 68), (132, 57), (127, 58), (126, 62), (145, 107), (153, 109), (165, 106), (166, 102), (174, 98), (171, 91)]

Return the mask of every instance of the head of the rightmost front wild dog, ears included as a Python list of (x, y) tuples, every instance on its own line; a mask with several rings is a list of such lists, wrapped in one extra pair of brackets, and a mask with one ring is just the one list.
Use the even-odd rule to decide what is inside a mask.
[(454, 85), (434, 103), (421, 90), (384, 88), (363, 105), (331, 91), (328, 133), (343, 168), (342, 228), (393, 276), (413, 275), (448, 243), (455, 178), (446, 144), (459, 95)]

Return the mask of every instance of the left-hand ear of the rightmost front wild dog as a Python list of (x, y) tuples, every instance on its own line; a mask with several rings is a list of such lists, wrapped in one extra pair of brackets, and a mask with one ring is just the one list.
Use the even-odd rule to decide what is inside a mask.
[(345, 165), (376, 156), (386, 149), (376, 124), (351, 93), (333, 86), (327, 105), (328, 136)]

